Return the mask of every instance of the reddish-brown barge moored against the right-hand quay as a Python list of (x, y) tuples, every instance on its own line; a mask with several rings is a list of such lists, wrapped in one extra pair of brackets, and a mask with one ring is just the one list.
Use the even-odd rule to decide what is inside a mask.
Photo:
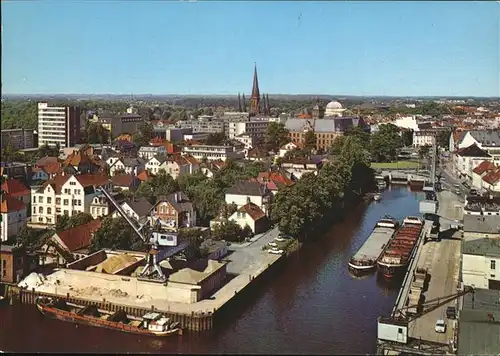
[(377, 261), (378, 269), (384, 277), (392, 278), (408, 266), (423, 227), (424, 223), (418, 217), (408, 216), (403, 220), (403, 225)]

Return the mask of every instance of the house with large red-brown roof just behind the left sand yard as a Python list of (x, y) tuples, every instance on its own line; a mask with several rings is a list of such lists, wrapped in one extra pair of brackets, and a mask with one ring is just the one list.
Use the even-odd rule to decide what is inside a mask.
[(101, 228), (101, 220), (56, 232), (39, 250), (40, 265), (66, 265), (87, 257), (92, 238)]

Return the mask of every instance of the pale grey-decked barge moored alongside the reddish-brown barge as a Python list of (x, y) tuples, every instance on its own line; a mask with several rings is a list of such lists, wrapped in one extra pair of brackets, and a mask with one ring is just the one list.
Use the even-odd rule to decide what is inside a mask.
[(377, 260), (384, 251), (387, 243), (396, 233), (399, 223), (391, 217), (384, 217), (377, 221), (372, 233), (350, 259), (349, 269), (354, 272), (368, 272), (377, 266)]

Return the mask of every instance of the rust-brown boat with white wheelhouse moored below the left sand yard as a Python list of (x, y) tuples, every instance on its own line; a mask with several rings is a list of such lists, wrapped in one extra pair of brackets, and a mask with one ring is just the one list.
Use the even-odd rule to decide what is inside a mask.
[(182, 335), (178, 322), (172, 322), (170, 318), (156, 312), (138, 318), (123, 310), (110, 312), (98, 309), (95, 305), (77, 305), (49, 297), (38, 297), (36, 307), (43, 315), (75, 324), (147, 336)]

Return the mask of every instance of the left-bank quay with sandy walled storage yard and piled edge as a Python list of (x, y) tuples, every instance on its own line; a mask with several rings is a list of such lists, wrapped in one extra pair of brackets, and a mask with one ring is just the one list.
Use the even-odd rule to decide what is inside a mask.
[[(264, 275), (271, 273), (280, 265), (279, 262), (285, 259), (284, 254), (270, 254), (263, 250), (263, 246), (277, 237), (277, 234), (277, 229), (273, 229), (254, 241), (240, 246), (232, 245), (231, 253), (225, 261), (211, 261), (214, 265), (221, 265), (219, 268), (223, 270), (224, 276), (227, 270), (232, 278), (226, 278), (222, 287), (201, 300), (188, 299), (189, 295), (201, 289), (201, 286), (195, 283), (158, 283), (130, 275), (71, 268), (57, 269), (52, 274), (40, 277), (39, 281), (34, 281), (35, 277), (30, 277), (32, 274), (27, 277), (32, 281), (25, 280), (26, 283), (21, 283), (21, 286), (6, 285), (6, 295), (11, 303), (34, 304), (37, 297), (47, 296), (84, 306), (95, 305), (111, 312), (122, 309), (138, 317), (156, 311), (180, 322), (187, 330), (211, 330), (214, 320), (222, 310), (240, 295), (246, 294), (250, 286), (258, 284)], [(109, 251), (109, 254), (112, 255), (112, 252)], [(81, 261), (83, 260), (77, 263)], [(142, 265), (143, 262), (144, 260), (139, 258), (132, 267)], [(133, 268), (129, 267), (130, 269)], [(141, 296), (137, 296), (138, 293)]]

